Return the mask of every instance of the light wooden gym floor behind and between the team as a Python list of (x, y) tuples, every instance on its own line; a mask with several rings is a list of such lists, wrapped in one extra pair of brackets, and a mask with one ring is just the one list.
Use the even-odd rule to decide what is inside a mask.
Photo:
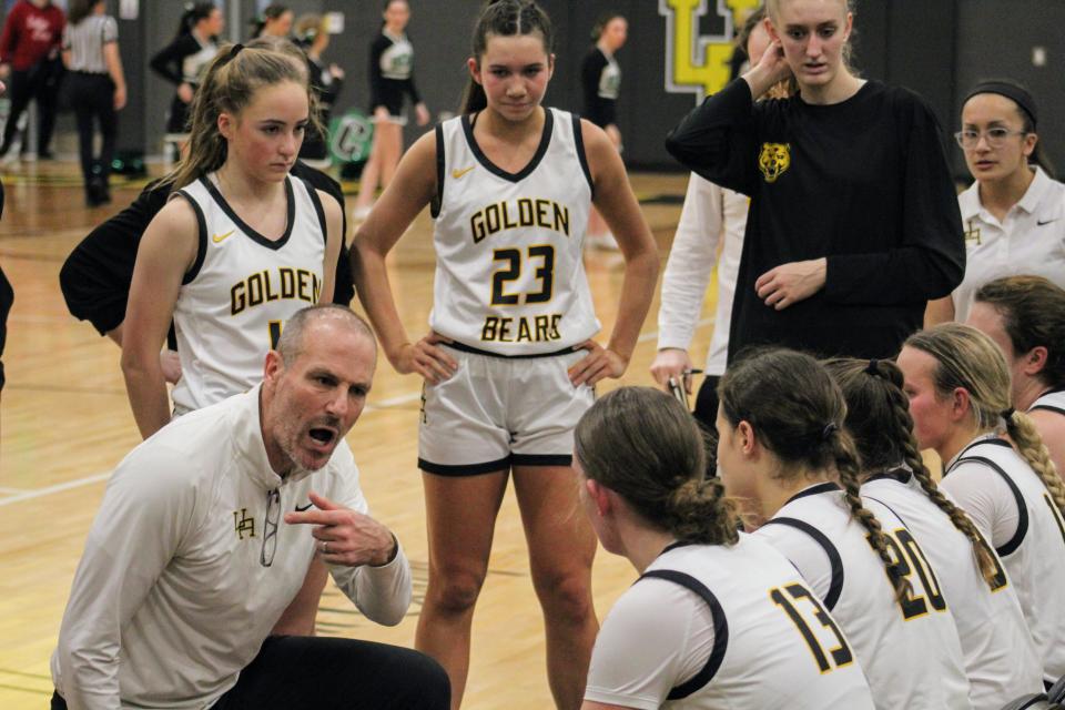
[[(75, 321), (59, 291), (67, 254), (108, 216), (129, 204), (140, 183), (114, 189), (114, 202), (88, 210), (73, 162), (3, 169), (7, 206), (0, 222), (0, 264), (16, 291), (3, 354), (8, 384), (0, 405), (0, 708), (47, 707), (49, 657), (85, 534), (104, 483), (139, 442), (130, 414), (119, 348)], [(638, 174), (633, 186), (658, 242), (662, 264), (683, 196), (683, 175)], [(352, 201), (348, 201), (351, 205)], [(412, 335), (424, 332), (432, 300), (430, 221), (423, 214), (390, 257), (393, 285)], [(586, 256), (600, 341), (615, 320), (621, 257)], [(713, 288), (692, 345), (697, 363), (712, 331)], [(358, 308), (358, 304), (353, 304)], [(656, 296), (623, 385), (652, 384)], [(371, 406), (348, 435), (372, 511), (403, 540), (414, 568), (408, 619), (383, 628), (364, 619), (332, 585), (318, 615), (322, 635), (403, 646), (414, 642), (426, 579), (420, 476), (416, 468), (420, 382), (381, 359)], [(579, 515), (579, 510), (575, 510)], [(599, 551), (595, 568), (600, 618), (636, 575), (623, 559)], [(529, 578), (525, 540), (513, 495), (496, 527), (490, 571), (474, 620), (467, 708), (546, 708), (542, 620)]]

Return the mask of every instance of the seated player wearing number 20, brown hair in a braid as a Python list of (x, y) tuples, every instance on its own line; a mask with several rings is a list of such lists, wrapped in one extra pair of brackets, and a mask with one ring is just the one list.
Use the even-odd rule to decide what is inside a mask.
[(839, 621), (876, 707), (971, 708), (951, 611), (920, 547), (896, 534), (902, 520), (859, 495), (846, 404), (824, 367), (792, 351), (757, 352), (730, 366), (718, 393), (727, 491), (764, 516), (755, 537), (791, 560)]

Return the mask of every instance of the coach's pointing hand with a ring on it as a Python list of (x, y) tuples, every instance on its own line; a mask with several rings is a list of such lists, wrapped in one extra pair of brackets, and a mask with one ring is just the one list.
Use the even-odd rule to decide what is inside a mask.
[(288, 525), (313, 525), (315, 550), (326, 565), (359, 567), (387, 565), (397, 550), (392, 532), (368, 515), (339, 506), (324, 496), (310, 494), (317, 510), (286, 513)]

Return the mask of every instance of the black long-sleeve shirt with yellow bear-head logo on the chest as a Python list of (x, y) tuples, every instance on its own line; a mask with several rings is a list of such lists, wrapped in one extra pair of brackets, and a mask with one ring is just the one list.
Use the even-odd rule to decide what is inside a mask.
[[(774, 344), (891, 357), (925, 304), (965, 271), (965, 242), (940, 126), (916, 94), (866, 82), (841, 103), (754, 103), (746, 81), (709, 97), (666, 148), (751, 197), (729, 357)], [(755, 293), (782, 264), (826, 257), (824, 287), (783, 311)]]

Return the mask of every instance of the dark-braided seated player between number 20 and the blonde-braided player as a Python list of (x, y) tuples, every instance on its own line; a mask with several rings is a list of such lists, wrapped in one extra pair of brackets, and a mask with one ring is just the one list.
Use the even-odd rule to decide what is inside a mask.
[(1042, 663), (1016, 590), (976, 526), (943, 495), (921, 458), (903, 377), (890, 361), (825, 366), (846, 399), (846, 429), (862, 459), (862, 495), (902, 519), (927, 555), (951, 607), (975, 710), (1039, 691)]

